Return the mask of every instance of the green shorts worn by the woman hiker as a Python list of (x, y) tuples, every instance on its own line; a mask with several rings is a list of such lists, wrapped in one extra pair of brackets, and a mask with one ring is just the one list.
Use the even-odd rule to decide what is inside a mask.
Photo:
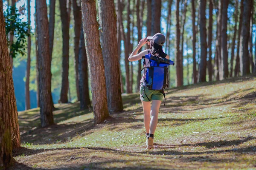
[[(143, 90), (144, 90), (144, 94), (143, 94)], [(144, 102), (150, 102), (148, 99), (160, 100), (163, 102), (163, 93), (160, 90), (148, 90), (146, 86), (143, 86), (140, 84), (140, 100)]]

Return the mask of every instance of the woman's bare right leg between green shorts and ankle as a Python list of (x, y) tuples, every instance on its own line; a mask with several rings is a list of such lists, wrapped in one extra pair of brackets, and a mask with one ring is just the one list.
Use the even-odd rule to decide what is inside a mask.
[(150, 121), (150, 127), (149, 127), (150, 134), (154, 134), (154, 132), (157, 128), (158, 112), (159, 112), (161, 102), (162, 101), (160, 101), (160, 100), (152, 100), (151, 121)]

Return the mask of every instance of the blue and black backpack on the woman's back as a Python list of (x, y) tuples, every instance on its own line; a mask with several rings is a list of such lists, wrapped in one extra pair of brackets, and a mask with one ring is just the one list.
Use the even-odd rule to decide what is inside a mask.
[[(144, 59), (143, 62), (143, 68), (141, 71), (143, 71), (145, 68), (148, 68), (144, 71), (144, 85), (149, 90), (160, 90), (163, 93), (164, 99), (165, 93), (164, 89), (168, 87), (168, 66), (174, 65), (174, 62), (172, 60), (166, 59), (166, 58), (160, 58), (157, 56), (154, 56), (152, 54), (147, 54), (142, 57)], [(145, 58), (149, 60), (148, 65), (145, 64)], [(148, 96), (146, 95), (148, 98)], [(151, 101), (150, 99), (148, 99)], [(165, 105), (165, 102), (164, 102)]]

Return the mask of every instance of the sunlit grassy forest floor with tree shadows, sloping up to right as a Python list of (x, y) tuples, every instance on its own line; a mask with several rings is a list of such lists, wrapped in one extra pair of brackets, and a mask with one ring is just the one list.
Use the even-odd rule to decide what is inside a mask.
[(47, 128), (38, 108), (20, 112), (12, 169), (256, 169), (256, 77), (169, 89), (152, 150), (139, 95), (123, 104), (99, 125), (79, 103), (55, 105), (56, 125)]

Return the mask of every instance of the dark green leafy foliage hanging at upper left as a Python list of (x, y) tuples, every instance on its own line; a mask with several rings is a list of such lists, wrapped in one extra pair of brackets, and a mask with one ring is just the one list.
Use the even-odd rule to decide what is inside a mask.
[[(10, 55), (15, 58), (17, 54), (25, 55), (26, 51), (26, 37), (29, 34), (29, 24), (23, 22), (20, 14), (14, 6), (10, 6), (4, 11), (6, 22), (6, 37), (8, 46), (10, 48)], [(9, 34), (14, 34), (14, 41), (10, 44)]]

